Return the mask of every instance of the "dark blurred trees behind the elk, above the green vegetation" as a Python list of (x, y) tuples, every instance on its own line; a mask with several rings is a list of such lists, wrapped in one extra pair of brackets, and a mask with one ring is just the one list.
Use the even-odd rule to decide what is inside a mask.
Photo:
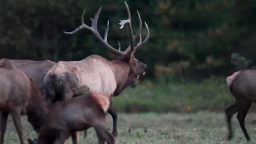
[[(240, 69), (231, 62), (236, 52), (256, 62), (256, 3), (254, 0), (127, 0), (134, 32), (136, 10), (147, 22), (150, 38), (136, 57), (147, 63), (148, 78), (157, 65), (171, 67), (171, 74), (186, 77), (227, 75)], [(118, 29), (127, 18), (123, 0), (1, 0), (0, 58), (81, 60), (91, 54), (108, 57), (107, 50), (89, 31), (71, 31), (91, 24), (99, 7), (98, 30), (103, 35), (110, 20), (108, 42), (122, 50), (129, 45), (128, 28)], [(143, 26), (142, 37), (146, 34)], [(138, 41), (138, 40), (137, 40)], [(177, 66), (180, 65), (181, 67)], [(180, 71), (180, 70), (184, 71)], [(160, 75), (162, 76), (162, 75)]]

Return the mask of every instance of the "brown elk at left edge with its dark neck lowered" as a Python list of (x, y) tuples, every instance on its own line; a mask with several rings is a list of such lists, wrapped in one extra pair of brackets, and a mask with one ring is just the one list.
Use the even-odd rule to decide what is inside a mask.
[(21, 70), (3, 68), (0, 68), (0, 111), (0, 144), (4, 143), (9, 113), (12, 115), (20, 144), (24, 144), (20, 115), (28, 115), (28, 121), (34, 130), (38, 131), (43, 124), (44, 116), (48, 113), (46, 103), (33, 79)]

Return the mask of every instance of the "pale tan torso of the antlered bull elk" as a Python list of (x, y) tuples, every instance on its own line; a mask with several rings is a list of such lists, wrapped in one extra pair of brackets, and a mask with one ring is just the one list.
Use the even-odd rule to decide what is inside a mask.
[[(68, 100), (70, 98), (69, 96), (73, 97), (73, 95), (87, 94), (91, 92), (112, 96), (117, 87), (114, 71), (118, 72), (123, 70), (116, 69), (112, 65), (112, 62), (109, 62), (97, 55), (88, 56), (78, 62), (60, 61), (53, 67), (53, 69), (49, 70), (46, 77), (46, 82), (49, 78), (54, 79), (54, 76), (56, 75), (56, 85), (78, 88), (64, 89), (64, 100)], [(128, 73), (128, 69), (126, 69), (126, 71)], [(65, 78), (69, 76), (74, 76), (77, 83), (70, 84), (66, 82)], [(124, 78), (122, 80), (126, 79)], [(47, 90), (49, 90), (49, 87)]]

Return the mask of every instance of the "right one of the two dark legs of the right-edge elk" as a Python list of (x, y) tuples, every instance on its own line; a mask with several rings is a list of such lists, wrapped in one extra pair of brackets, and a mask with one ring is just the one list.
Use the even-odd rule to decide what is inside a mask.
[(243, 131), (244, 136), (246, 137), (246, 140), (249, 141), (250, 137), (246, 131), (245, 125), (244, 125), (244, 121), (245, 121), (245, 117), (247, 115), (247, 112), (249, 110), (249, 108), (251, 107), (252, 102), (251, 101), (243, 101), (243, 104), (240, 105), (240, 110), (236, 116), (237, 120), (239, 121), (240, 127)]

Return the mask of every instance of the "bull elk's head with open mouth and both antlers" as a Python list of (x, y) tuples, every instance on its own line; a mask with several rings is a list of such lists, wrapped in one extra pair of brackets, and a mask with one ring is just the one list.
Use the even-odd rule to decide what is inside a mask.
[[(134, 54), (142, 45), (144, 45), (148, 41), (149, 29), (148, 29), (147, 23), (145, 22), (145, 26), (146, 26), (146, 29), (147, 29), (147, 35), (146, 35), (146, 38), (141, 42), (142, 23), (141, 23), (140, 14), (137, 11), (138, 18), (139, 18), (139, 29), (138, 29), (138, 32), (135, 35), (133, 35), (133, 31), (132, 31), (132, 27), (131, 27), (131, 13), (130, 13), (129, 7), (128, 7), (126, 2), (125, 2), (125, 6), (126, 6), (126, 9), (127, 9), (127, 13), (128, 13), (128, 19), (127, 20), (120, 20), (120, 23), (118, 23), (118, 24), (121, 25), (120, 26), (120, 29), (121, 29), (121, 28), (124, 27), (125, 23), (128, 23), (131, 40), (130, 40), (130, 46), (128, 46), (128, 48), (123, 52), (120, 50), (121, 46), (120, 46), (119, 42), (118, 42), (118, 45), (119, 45), (118, 50), (113, 48), (112, 46), (110, 46), (107, 43), (109, 21), (107, 23), (107, 27), (106, 27), (106, 30), (105, 30), (104, 39), (102, 39), (102, 37), (98, 33), (97, 21), (98, 21), (98, 16), (101, 12), (101, 8), (96, 13), (94, 19), (91, 19), (92, 20), (92, 26), (91, 27), (87, 26), (84, 23), (84, 15), (85, 15), (85, 10), (84, 10), (84, 12), (82, 14), (82, 17), (81, 17), (82, 25), (79, 26), (77, 29), (75, 29), (74, 31), (72, 31), (70, 33), (67, 33), (67, 32), (64, 32), (64, 33), (74, 34), (74, 33), (77, 33), (80, 29), (87, 29), (87, 30), (91, 31), (104, 46), (106, 46), (111, 52), (115, 53), (115, 55), (114, 54), (110, 55), (111, 59), (113, 61), (123, 62), (123, 63), (125, 63), (125, 65), (129, 66), (130, 69), (129, 69), (129, 74), (128, 75), (129, 75), (129, 77), (135, 78), (135, 79), (131, 80), (132, 82), (130, 84), (132, 85), (132, 84), (135, 84), (135, 83), (138, 82), (139, 75), (144, 75), (145, 74), (144, 70), (147, 69), (147, 65), (144, 64), (143, 62), (138, 61), (135, 58)], [(134, 46), (135, 39), (137, 39), (138, 36), (140, 36), (140, 41), (137, 44), (137, 46)]]

